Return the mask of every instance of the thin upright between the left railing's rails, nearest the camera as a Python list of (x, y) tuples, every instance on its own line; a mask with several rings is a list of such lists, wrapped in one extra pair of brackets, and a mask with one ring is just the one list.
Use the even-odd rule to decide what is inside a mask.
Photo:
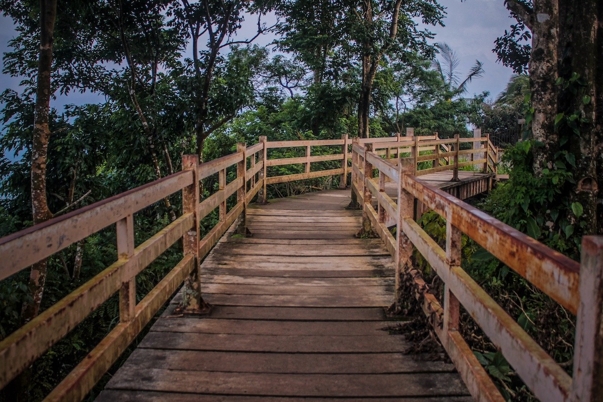
[[(127, 260), (134, 254), (134, 217), (130, 214), (116, 222), (117, 254)], [(119, 289), (119, 321), (130, 322), (136, 309), (136, 273), (128, 272), (128, 280)]]

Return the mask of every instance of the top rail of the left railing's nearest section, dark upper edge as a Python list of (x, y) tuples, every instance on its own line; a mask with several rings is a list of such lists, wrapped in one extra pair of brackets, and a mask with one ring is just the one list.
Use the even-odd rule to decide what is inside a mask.
[(188, 186), (182, 171), (0, 239), (0, 280)]

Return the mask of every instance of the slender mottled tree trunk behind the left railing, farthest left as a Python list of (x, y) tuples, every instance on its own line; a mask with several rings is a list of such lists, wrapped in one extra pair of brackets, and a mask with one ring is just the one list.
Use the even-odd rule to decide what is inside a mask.
[[(34, 117), (34, 135), (31, 149), (31, 209), (34, 224), (52, 218), (46, 199), (46, 163), (50, 128), (50, 96), (52, 94), (50, 74), (52, 69), (52, 47), (54, 45), (54, 22), (57, 17), (57, 0), (40, 1), (40, 57), (36, 89), (36, 115)], [(22, 322), (28, 322), (37, 316), (42, 302), (46, 282), (46, 260), (31, 266), (30, 293), (31, 303), (25, 303), (21, 311)]]

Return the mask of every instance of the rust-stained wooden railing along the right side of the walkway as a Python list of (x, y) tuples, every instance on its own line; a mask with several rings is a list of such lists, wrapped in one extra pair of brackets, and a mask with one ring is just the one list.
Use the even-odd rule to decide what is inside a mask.
[[(490, 147), (488, 141), (488, 153)], [(396, 303), (402, 299), (401, 281), (410, 281), (414, 297), (420, 301), (475, 400), (504, 401), (504, 398), (459, 333), (461, 305), (500, 348), (539, 400), (600, 400), (603, 395), (603, 237), (584, 237), (582, 262), (577, 263), (425, 184), (415, 177), (416, 154), (401, 159), (396, 166), (382, 159), (374, 148), (376, 144), (354, 143), (352, 146), (352, 187), (358, 199), (364, 201), (362, 230), (372, 230), (384, 240), (396, 260)], [(377, 177), (373, 177), (375, 169), (379, 172)], [(384, 191), (386, 180), (398, 183), (397, 203)], [(376, 199), (376, 208), (373, 199)], [(445, 248), (414, 221), (415, 199), (446, 219)], [(397, 237), (385, 225), (388, 217), (394, 217)], [(464, 271), (462, 233), (577, 315), (573, 378)], [(440, 300), (429, 292), (429, 285), (412, 266), (413, 247), (443, 281), (444, 294)]]

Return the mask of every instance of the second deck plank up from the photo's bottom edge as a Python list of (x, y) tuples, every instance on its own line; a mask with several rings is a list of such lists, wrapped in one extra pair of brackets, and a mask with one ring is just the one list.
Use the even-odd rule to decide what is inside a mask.
[[(152, 391), (303, 397), (406, 397), (463, 395), (458, 374), (270, 374), (147, 369), (124, 371), (107, 388), (128, 389), (131, 382)], [(311, 384), (312, 386), (308, 386)]]

